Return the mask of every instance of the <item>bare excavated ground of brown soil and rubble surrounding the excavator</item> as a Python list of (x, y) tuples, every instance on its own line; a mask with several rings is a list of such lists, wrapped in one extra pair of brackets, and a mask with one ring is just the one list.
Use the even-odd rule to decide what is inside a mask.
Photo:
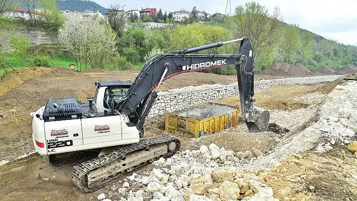
[[(353, 82), (338, 80), (329, 84), (277, 86), (262, 90), (256, 94), (257, 105), (271, 111), (269, 131), (249, 133), (245, 124), (240, 122), (235, 128), (201, 139), (181, 139), (182, 149), (170, 163), (159, 160), (135, 170), (134, 175), (133, 172), (123, 175), (120, 181), (110, 186), (83, 193), (71, 180), (72, 167), (77, 163), (53, 167), (45, 157), (37, 154), (26, 156), (33, 151), (28, 113), (44, 105), (48, 98), (72, 96), (83, 100), (93, 94), (94, 82), (133, 80), (138, 72), (37, 71), (39, 73), (26, 77), (21, 77), (21, 74), (27, 72), (20, 72), (20, 75), (13, 75), (18, 79), (16, 82), (4, 79), (0, 85), (0, 93), (3, 94), (0, 96), (0, 165), (11, 161), (0, 166), (1, 200), (97, 200), (98, 195), (103, 200), (101, 193), (110, 200), (148, 200), (161, 197), (161, 194), (159, 200), (210, 200), (209, 197), (211, 200), (227, 200), (224, 192), (239, 185), (235, 185), (236, 182), (249, 183), (249, 193), (247, 196), (238, 193), (239, 199), (245, 196), (244, 199), (248, 200), (274, 200), (272, 196), (266, 199), (258, 197), (264, 194), (260, 190), (269, 194), (272, 189), (274, 197), (284, 201), (357, 200), (357, 154), (347, 149), (347, 145), (356, 140), (355, 133), (352, 136), (349, 131), (355, 123), (353, 111), (354, 115), (357, 114), (357, 84)], [(194, 73), (166, 81), (163, 90), (187, 85), (230, 84), (235, 79), (234, 76)], [(236, 106), (239, 105), (237, 101), (238, 97), (229, 97), (215, 102)], [(345, 102), (348, 102), (348, 111), (342, 109)], [(164, 116), (147, 120), (145, 130), (147, 137), (162, 135)], [(225, 151), (221, 151), (222, 147)], [(217, 148), (225, 155), (213, 159)], [(227, 158), (228, 153), (234, 156)], [(187, 171), (178, 174), (175, 167), (181, 162), (189, 166)], [(196, 171), (196, 167), (200, 171)], [(211, 177), (204, 177), (207, 171), (223, 171), (232, 167), (236, 169), (231, 173), (232, 180), (214, 178), (211, 182)], [(178, 176), (172, 176), (176, 174)], [(164, 181), (166, 175), (172, 176), (172, 182)], [(197, 178), (189, 179), (190, 175)], [(143, 182), (143, 178), (149, 182)], [(187, 185), (186, 179), (190, 181)], [(155, 188), (155, 182), (160, 184), (160, 188)], [(129, 186), (123, 188), (123, 184)], [(206, 184), (208, 192), (204, 190), (201, 193), (194, 188)], [(222, 199), (216, 199), (220, 196)]]

